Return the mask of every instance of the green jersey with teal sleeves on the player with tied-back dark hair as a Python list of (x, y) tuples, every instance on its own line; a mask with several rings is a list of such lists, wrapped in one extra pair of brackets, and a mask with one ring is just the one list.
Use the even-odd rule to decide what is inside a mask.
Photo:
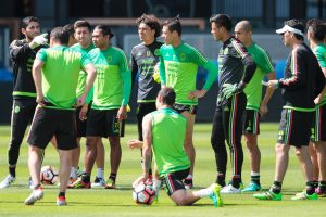
[(91, 108), (114, 110), (127, 105), (131, 89), (131, 75), (125, 53), (115, 47), (101, 51), (96, 48), (89, 56), (97, 68)]

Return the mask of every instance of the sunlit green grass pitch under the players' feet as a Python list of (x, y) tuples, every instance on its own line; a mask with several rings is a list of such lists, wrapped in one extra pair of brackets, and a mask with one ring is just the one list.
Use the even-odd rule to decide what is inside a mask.
[[(122, 139), (123, 157), (117, 176), (117, 190), (90, 189), (68, 190), (66, 207), (55, 205), (58, 187), (46, 186), (43, 200), (34, 206), (25, 206), (24, 200), (29, 195), (27, 188), (27, 144), (24, 141), (17, 165), (17, 180), (9, 188), (0, 190), (0, 216), (325, 216), (326, 199), (318, 201), (291, 201), (290, 197), (304, 188), (304, 180), (293, 150), (290, 154), (289, 169), (284, 182), (284, 200), (280, 202), (262, 202), (252, 194), (223, 195), (225, 206), (214, 208), (209, 199), (203, 199), (191, 207), (178, 207), (164, 191), (160, 192), (159, 204), (137, 206), (131, 199), (131, 182), (141, 175), (139, 151), (126, 148), (126, 141), (136, 138), (136, 125), (126, 126), (126, 137)], [(261, 181), (267, 189), (274, 177), (274, 144), (277, 136), (277, 124), (262, 124), (259, 139), (262, 152)], [(210, 124), (195, 126), (195, 146), (197, 150), (195, 184), (208, 187), (215, 180), (216, 167), (214, 152), (210, 144)], [(10, 128), (0, 126), (0, 179), (8, 175), (7, 149)], [(105, 175), (109, 175), (109, 144), (106, 148)], [(84, 154), (84, 153), (83, 153)], [(243, 182), (250, 181), (248, 152), (244, 148)], [(43, 165), (58, 168), (58, 155), (48, 146)], [(80, 166), (83, 164), (80, 163)], [(228, 168), (230, 171), (230, 168)], [(93, 176), (96, 170), (93, 170)], [(230, 174), (227, 174), (230, 178)], [(93, 177), (92, 177), (93, 179)]]

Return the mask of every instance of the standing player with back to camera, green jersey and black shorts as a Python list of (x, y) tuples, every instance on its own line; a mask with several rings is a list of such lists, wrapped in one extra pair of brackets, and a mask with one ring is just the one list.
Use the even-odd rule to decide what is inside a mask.
[[(96, 68), (86, 52), (67, 48), (70, 35), (63, 27), (50, 34), (50, 48), (41, 49), (33, 65), (33, 78), (39, 104), (30, 126), (27, 142), (28, 168), (34, 189), (25, 200), (33, 205), (43, 197), (40, 183), (40, 153), (54, 136), (60, 156), (60, 193), (57, 205), (66, 205), (65, 191), (70, 179), (72, 150), (77, 148), (74, 106), (82, 106), (96, 78)], [(76, 99), (76, 88), (80, 68), (88, 74), (83, 94)]]

